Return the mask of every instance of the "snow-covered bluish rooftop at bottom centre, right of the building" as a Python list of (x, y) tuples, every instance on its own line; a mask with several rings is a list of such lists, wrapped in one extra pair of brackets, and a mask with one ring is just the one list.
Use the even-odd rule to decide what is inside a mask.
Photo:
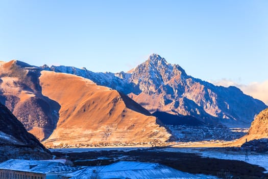
[(195, 175), (174, 168), (143, 162), (120, 161), (107, 166), (87, 167), (77, 172), (66, 174), (71, 179), (90, 178), (98, 174), (99, 178), (216, 178), (209, 175)]

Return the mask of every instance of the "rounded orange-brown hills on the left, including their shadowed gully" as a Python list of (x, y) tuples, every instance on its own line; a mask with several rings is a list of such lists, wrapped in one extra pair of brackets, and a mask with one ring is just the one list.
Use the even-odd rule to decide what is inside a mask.
[(164, 142), (170, 134), (128, 96), (20, 61), (1, 65), (2, 103), (47, 146)]

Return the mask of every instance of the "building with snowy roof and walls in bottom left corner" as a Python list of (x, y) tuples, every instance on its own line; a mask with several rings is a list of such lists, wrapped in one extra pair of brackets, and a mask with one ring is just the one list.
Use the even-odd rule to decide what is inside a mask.
[(0, 164), (0, 179), (57, 179), (62, 174), (81, 168), (66, 164), (66, 160), (29, 161), (11, 159)]

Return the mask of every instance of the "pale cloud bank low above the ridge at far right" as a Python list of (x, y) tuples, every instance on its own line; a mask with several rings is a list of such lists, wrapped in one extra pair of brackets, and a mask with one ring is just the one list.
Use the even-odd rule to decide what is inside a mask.
[(248, 85), (239, 84), (229, 79), (221, 79), (218, 81), (210, 81), (211, 83), (218, 86), (236, 86), (242, 90), (243, 93), (252, 96), (253, 98), (263, 101), (268, 105), (268, 80), (263, 82), (252, 82)]

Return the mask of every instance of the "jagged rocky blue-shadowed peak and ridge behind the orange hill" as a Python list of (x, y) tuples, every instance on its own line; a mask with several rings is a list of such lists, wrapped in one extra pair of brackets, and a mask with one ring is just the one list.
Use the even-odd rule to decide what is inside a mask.
[(234, 86), (215, 86), (193, 78), (181, 66), (169, 64), (157, 54), (128, 73), (93, 73), (66, 66), (44, 66), (43, 69), (83, 76), (117, 89), (151, 113), (164, 111), (192, 116), (205, 123), (249, 126), (254, 116), (267, 107)]

